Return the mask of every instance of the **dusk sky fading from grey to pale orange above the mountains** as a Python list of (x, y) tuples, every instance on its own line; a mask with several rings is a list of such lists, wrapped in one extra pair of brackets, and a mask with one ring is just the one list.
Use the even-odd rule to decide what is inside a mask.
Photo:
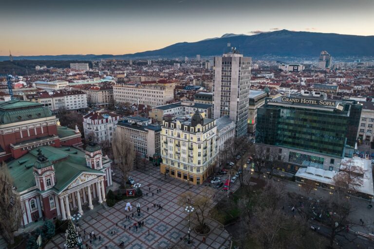
[(374, 0), (1, 0), (0, 55), (126, 54), (226, 33), (374, 35)]

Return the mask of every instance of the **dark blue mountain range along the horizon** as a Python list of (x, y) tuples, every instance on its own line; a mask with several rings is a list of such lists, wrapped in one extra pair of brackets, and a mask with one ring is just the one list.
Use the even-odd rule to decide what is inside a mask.
[[(296, 32), (279, 30), (257, 35), (225, 34), (221, 37), (208, 38), (197, 42), (180, 42), (168, 47), (132, 54), (66, 54), (13, 56), (13, 59), (28, 60), (97, 60), (97, 59), (147, 59), (147, 58), (175, 58), (202, 57), (219, 55), (229, 48), (236, 47), (245, 56), (261, 57), (318, 57), (322, 50), (326, 50), (334, 57), (346, 56), (374, 56), (374, 36), (353, 36), (340, 34), (326, 34), (315, 32)], [(9, 60), (8, 56), (0, 56), (0, 60)]]

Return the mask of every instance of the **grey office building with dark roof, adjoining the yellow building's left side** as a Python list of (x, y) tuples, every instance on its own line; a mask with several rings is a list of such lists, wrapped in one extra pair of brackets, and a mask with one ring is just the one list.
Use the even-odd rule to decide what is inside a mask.
[(137, 157), (151, 160), (155, 154), (160, 155), (160, 125), (151, 125), (151, 120), (142, 117), (124, 117), (118, 123), (121, 132), (134, 145)]

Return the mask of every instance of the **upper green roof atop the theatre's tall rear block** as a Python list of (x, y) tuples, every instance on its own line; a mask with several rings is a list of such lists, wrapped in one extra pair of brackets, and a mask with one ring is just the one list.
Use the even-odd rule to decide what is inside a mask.
[(10, 100), (0, 103), (0, 124), (10, 124), (51, 116), (53, 116), (51, 110), (36, 102)]

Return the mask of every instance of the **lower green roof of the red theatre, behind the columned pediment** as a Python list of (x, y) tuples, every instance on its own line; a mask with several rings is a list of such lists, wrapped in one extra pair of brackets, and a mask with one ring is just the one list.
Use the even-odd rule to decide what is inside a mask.
[(42, 154), (54, 163), (56, 172), (56, 185), (53, 190), (61, 192), (81, 173), (104, 174), (99, 170), (86, 166), (85, 153), (74, 147), (52, 147), (42, 146), (35, 148), (23, 157), (8, 162), (10, 175), (14, 179), (14, 185), (18, 192), (36, 186), (33, 174), (34, 163), (37, 162), (37, 150), (41, 149)]

